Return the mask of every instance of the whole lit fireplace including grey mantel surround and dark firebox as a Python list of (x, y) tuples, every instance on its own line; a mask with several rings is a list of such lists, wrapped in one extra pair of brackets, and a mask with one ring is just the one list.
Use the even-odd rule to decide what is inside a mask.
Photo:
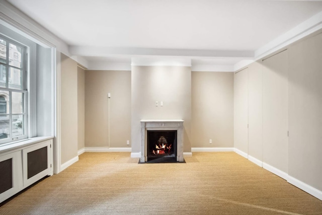
[(184, 120), (141, 120), (140, 162), (174, 158), (183, 162)]

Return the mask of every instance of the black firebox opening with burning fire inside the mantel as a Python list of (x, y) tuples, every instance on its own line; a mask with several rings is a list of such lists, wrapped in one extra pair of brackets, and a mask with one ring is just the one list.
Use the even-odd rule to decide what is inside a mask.
[(177, 158), (176, 130), (147, 131), (147, 161), (157, 158)]

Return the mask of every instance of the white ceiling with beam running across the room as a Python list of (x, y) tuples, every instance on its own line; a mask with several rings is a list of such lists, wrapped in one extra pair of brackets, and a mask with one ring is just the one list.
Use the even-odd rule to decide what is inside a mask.
[(88, 61), (128, 63), (138, 56), (183, 56), (193, 64), (230, 68), (322, 14), (322, 1), (9, 2), (69, 44), (71, 54)]

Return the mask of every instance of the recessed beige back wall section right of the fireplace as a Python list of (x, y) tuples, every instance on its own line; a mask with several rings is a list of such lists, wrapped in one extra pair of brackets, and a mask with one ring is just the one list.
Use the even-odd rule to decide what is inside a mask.
[(192, 71), (191, 92), (192, 147), (233, 147), (233, 73)]

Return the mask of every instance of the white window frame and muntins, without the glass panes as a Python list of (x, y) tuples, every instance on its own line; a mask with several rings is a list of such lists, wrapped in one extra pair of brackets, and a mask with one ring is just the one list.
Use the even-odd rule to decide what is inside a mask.
[[(6, 37), (3, 34), (0, 34), (0, 38), (2, 40), (5, 40), (7, 42), (7, 47), (6, 47), (6, 63), (2, 63), (0, 62), (1, 65), (6, 66), (6, 87), (0, 87), (1, 91), (8, 91), (9, 92), (9, 101), (8, 101), (8, 106), (9, 106), (9, 113), (6, 114), (0, 114), (0, 116), (9, 116), (9, 129), (10, 129), (10, 137), (8, 138), (4, 138), (4, 139), (0, 139), (0, 146), (3, 146), (4, 144), (11, 144), (12, 142), (15, 142), (17, 140), (22, 140), (22, 139), (27, 139), (28, 138), (28, 89), (27, 89), (27, 82), (28, 82), (28, 47), (23, 45), (22, 43), (16, 41), (16, 40), (12, 40), (8, 37)], [(19, 48), (21, 48), (21, 67), (17, 67), (14, 65), (10, 65), (9, 62), (9, 44), (13, 44)], [(20, 69), (21, 70), (21, 89), (13, 89), (13, 88), (9, 88), (9, 73), (10, 73), (10, 68), (16, 68), (16, 69)], [(24, 107), (24, 111), (23, 113), (13, 113), (12, 111), (12, 93), (13, 92), (18, 92), (18, 93), (23, 93), (24, 97), (23, 97), (23, 107)], [(13, 136), (13, 116), (15, 115), (23, 115), (23, 135), (19, 135), (19, 136)]]

